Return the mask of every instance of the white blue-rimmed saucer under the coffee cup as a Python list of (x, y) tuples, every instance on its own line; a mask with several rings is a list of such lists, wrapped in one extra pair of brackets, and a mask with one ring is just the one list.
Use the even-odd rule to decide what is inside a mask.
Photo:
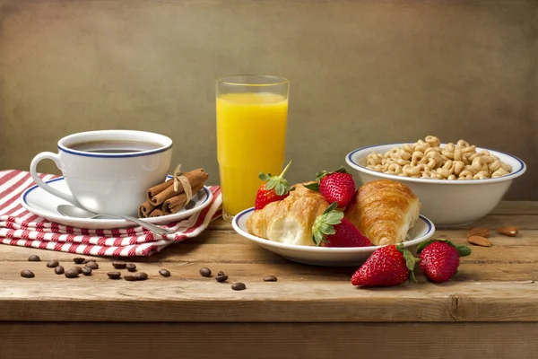
[[(168, 176), (170, 179), (171, 177)], [(55, 180), (48, 180), (46, 183), (50, 187), (56, 188), (66, 193), (71, 193), (63, 177)], [(60, 224), (70, 225), (77, 228), (88, 229), (116, 229), (134, 227), (134, 224), (130, 221), (123, 219), (86, 219), (86, 218), (74, 218), (61, 215), (56, 207), (59, 205), (70, 205), (56, 196), (51, 195), (39, 186), (33, 186), (25, 190), (21, 195), (21, 204), (24, 208), (29, 210), (34, 215), (39, 215), (48, 221), (56, 222)], [(190, 200), (190, 202), (174, 215), (162, 215), (161, 217), (141, 218), (147, 223), (153, 224), (167, 224), (177, 222), (178, 220), (187, 218), (190, 215), (194, 215), (200, 212), (204, 207), (208, 206), (213, 199), (213, 193), (211, 190), (204, 186), (198, 193)]]

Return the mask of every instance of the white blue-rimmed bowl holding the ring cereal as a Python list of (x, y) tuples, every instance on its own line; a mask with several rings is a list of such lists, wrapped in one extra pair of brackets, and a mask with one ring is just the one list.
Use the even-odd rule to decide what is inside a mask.
[(431, 180), (402, 177), (366, 168), (369, 153), (386, 153), (393, 147), (403, 145), (378, 144), (363, 147), (348, 153), (345, 160), (356, 170), (362, 183), (385, 179), (407, 185), (421, 201), (421, 214), (430, 218), (437, 226), (460, 226), (488, 215), (499, 204), (512, 181), (526, 171), (525, 162), (516, 156), (479, 147), (476, 148), (477, 152), (489, 151), (502, 162), (510, 164), (512, 172), (506, 176), (486, 180)]

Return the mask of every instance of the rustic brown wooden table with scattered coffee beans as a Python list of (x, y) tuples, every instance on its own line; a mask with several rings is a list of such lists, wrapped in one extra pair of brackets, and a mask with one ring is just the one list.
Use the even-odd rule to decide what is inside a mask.
[[(91, 277), (56, 276), (46, 261), (71, 267), (74, 255), (1, 246), (0, 358), (535, 358), (538, 203), (504, 202), (473, 224), (501, 225), (520, 232), (491, 231), (492, 247), (473, 246), (451, 281), (418, 276), (377, 289), (353, 287), (356, 268), (289, 262), (221, 220), (139, 258), (144, 282), (108, 279), (111, 258), (98, 258)], [(465, 229), (436, 235), (465, 242)], [(31, 254), (41, 262), (28, 262)], [(217, 283), (200, 267), (230, 279)], [(35, 278), (22, 278), (24, 268)], [(264, 282), (268, 275), (278, 282)], [(232, 291), (234, 282), (247, 290)]]

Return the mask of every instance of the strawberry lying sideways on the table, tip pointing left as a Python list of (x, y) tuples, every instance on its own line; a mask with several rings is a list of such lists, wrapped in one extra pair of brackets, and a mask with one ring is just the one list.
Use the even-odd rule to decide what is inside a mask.
[(401, 285), (410, 277), (416, 281), (413, 268), (418, 261), (404, 245), (389, 244), (374, 251), (366, 262), (351, 276), (351, 285)]

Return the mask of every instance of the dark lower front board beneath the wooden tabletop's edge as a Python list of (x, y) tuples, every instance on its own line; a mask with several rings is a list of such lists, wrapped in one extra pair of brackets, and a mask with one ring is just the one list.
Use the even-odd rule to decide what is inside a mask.
[[(530, 359), (537, 323), (0, 323), (5, 359)], [(137, 338), (138, 340), (134, 340)]]

